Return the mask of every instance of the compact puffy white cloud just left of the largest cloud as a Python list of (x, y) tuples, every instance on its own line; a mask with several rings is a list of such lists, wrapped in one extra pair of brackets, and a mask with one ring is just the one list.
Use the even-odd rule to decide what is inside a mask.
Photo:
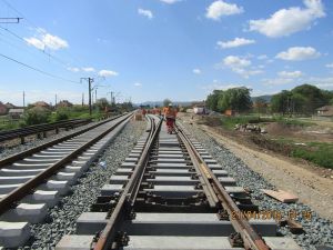
[(210, 4), (209, 8), (206, 8), (205, 17), (213, 20), (220, 20), (222, 16), (238, 14), (242, 13), (243, 11), (244, 10), (242, 7), (218, 0)]

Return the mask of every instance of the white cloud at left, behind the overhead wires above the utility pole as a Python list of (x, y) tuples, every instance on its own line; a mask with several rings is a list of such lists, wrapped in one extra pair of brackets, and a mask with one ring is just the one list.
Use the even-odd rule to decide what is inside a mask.
[(37, 49), (44, 50), (49, 48), (51, 50), (59, 50), (69, 47), (65, 40), (51, 33), (48, 33), (44, 29), (38, 28), (37, 32), (39, 38), (23, 38), (28, 44), (33, 46)]

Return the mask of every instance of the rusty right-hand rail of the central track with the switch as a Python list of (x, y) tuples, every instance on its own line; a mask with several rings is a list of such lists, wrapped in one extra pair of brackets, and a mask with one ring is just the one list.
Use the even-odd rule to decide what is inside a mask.
[(249, 220), (244, 219), (243, 217), (239, 216), (234, 219), (231, 218), (231, 214), (242, 214), (241, 210), (238, 208), (235, 202), (232, 200), (232, 198), (229, 196), (229, 193), (225, 191), (223, 186), (220, 183), (215, 174), (211, 171), (211, 169), (208, 167), (208, 164), (204, 162), (189, 137), (184, 133), (182, 129), (180, 129), (179, 126), (176, 126), (179, 136), (181, 138), (184, 138), (185, 144), (189, 146), (188, 151), (192, 152), (192, 154), (195, 156), (195, 160), (198, 164), (200, 166), (200, 172), (205, 176), (205, 178), (209, 180), (211, 187), (214, 189), (221, 206), (226, 210), (226, 212), (230, 216), (230, 221), (232, 226), (234, 227), (235, 231), (240, 233), (245, 249), (252, 249), (252, 250), (269, 250), (270, 248), (264, 242), (264, 240), (256, 233), (256, 231), (253, 229), (253, 227), (249, 223)]

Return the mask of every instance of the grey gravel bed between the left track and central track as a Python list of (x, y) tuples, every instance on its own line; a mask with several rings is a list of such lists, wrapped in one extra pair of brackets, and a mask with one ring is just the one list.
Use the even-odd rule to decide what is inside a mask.
[(89, 211), (90, 206), (100, 194), (100, 188), (108, 182), (114, 170), (128, 157), (134, 143), (145, 129), (144, 121), (131, 121), (113, 142), (107, 148), (104, 154), (89, 171), (72, 187), (72, 193), (64, 197), (54, 208), (49, 210), (46, 223), (31, 226), (31, 242), (21, 249), (54, 249), (64, 234), (74, 234), (75, 222), (82, 212)]

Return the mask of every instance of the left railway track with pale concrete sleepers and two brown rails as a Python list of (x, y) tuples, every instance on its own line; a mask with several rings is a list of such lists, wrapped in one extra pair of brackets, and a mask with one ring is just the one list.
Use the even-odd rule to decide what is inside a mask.
[(70, 186), (132, 113), (119, 116), (0, 161), (0, 249), (23, 246)]

